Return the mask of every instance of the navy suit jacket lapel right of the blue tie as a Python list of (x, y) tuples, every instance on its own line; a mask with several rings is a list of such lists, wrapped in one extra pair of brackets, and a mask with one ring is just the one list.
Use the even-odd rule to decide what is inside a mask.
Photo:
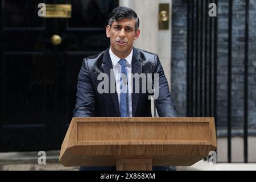
[[(131, 72), (134, 73), (138, 73), (139, 75), (141, 75), (142, 73), (142, 62), (140, 61), (141, 59), (141, 55), (139, 54), (138, 49), (133, 48), (133, 59), (131, 61)], [(139, 93), (135, 93), (135, 88), (134, 88), (134, 81), (133, 82), (133, 93), (131, 94), (131, 100), (133, 103), (133, 117), (135, 117), (136, 114), (136, 110), (137, 110), (137, 106), (138, 106), (138, 101), (139, 101)], [(140, 79), (140, 86), (141, 84), (141, 79)], [(140, 92), (141, 92), (141, 88), (140, 88)]]

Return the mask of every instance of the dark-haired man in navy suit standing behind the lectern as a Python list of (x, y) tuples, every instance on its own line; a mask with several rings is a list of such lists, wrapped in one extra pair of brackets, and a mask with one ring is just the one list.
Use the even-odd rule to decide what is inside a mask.
[[(158, 55), (133, 47), (139, 34), (139, 19), (133, 10), (117, 7), (110, 13), (109, 25), (106, 27), (110, 48), (82, 61), (73, 117), (151, 117), (151, 100), (148, 99), (151, 92), (143, 92), (143, 88), (156, 86), (158, 95), (155, 106), (159, 117), (176, 117), (175, 105)], [(133, 75), (136, 73), (137, 76), (144, 74), (151, 77), (146, 77), (145, 82), (143, 79), (135, 79)], [(103, 86), (102, 78), (107, 83)]]

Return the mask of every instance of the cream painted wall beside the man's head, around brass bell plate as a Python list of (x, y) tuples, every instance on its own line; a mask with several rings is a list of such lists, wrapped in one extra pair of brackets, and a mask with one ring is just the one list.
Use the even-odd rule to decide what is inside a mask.
[[(169, 30), (158, 30), (158, 5), (170, 4)], [(171, 86), (171, 10), (172, 0), (119, 0), (119, 6), (133, 9), (140, 20), (141, 36), (134, 46), (157, 53), (163, 65), (169, 86)]]

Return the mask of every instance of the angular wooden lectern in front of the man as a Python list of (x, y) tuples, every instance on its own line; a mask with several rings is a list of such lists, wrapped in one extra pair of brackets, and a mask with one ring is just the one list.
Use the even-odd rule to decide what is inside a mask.
[(73, 118), (59, 162), (64, 166), (191, 166), (216, 150), (214, 118)]

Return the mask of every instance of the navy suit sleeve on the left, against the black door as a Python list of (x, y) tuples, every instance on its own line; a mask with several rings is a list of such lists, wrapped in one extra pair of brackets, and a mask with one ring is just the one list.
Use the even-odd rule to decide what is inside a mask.
[(94, 117), (95, 93), (90, 79), (87, 60), (82, 61), (82, 67), (77, 80), (76, 107), (73, 117)]

